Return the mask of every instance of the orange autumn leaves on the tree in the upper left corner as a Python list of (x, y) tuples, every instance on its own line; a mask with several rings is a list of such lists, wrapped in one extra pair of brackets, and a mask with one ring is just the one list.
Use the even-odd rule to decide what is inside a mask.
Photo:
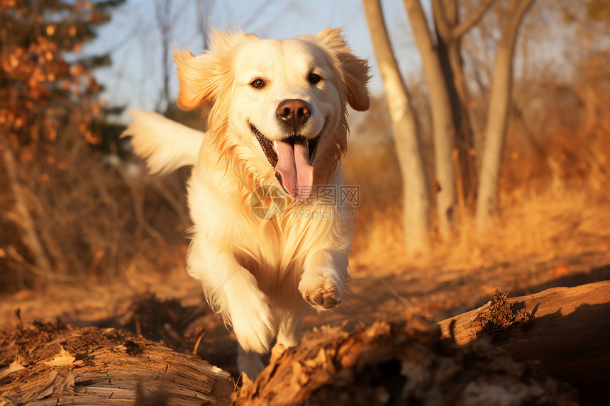
[(91, 69), (108, 58), (79, 51), (109, 19), (103, 10), (89, 1), (1, 1), (0, 125), (21, 163), (50, 153), (66, 125), (97, 142), (101, 86)]

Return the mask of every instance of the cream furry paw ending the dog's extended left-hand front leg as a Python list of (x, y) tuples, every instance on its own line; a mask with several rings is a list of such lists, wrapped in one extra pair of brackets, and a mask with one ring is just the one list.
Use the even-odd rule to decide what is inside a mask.
[(266, 296), (238, 300), (231, 306), (231, 324), (245, 351), (265, 354), (275, 338), (276, 327)]

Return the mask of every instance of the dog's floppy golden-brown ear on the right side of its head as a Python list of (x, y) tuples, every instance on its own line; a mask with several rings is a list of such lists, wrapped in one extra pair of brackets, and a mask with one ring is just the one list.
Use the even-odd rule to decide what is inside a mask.
[(367, 83), (371, 78), (367, 60), (352, 53), (339, 28), (321, 30), (316, 40), (334, 57), (338, 73), (345, 81), (350, 106), (357, 111), (367, 110), (370, 105)]

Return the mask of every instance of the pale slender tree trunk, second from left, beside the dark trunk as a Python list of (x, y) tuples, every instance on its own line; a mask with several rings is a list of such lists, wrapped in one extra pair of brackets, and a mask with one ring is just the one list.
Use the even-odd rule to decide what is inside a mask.
[(435, 178), (439, 186), (436, 193), (438, 229), (440, 235), (447, 238), (455, 212), (455, 175), (452, 157), (455, 127), (449, 89), (445, 82), (443, 69), (440, 67), (438, 50), (432, 43), (426, 16), (423, 14), (419, 0), (404, 0), (404, 6), (409, 14), (413, 36), (421, 54), (423, 74), (430, 91)]

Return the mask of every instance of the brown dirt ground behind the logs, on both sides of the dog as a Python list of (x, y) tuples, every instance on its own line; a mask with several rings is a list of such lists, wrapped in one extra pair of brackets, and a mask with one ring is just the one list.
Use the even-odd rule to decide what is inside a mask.
[[(410, 312), (438, 322), (487, 303), (496, 289), (513, 297), (608, 280), (610, 254), (531, 259), (484, 269), (415, 269), (397, 263), (369, 266), (355, 258), (351, 275), (350, 298), (331, 312), (312, 311), (304, 320), (305, 331), (337, 324), (351, 329), (383, 317), (400, 319)], [(74, 327), (126, 329), (181, 351), (195, 350), (237, 377), (235, 337), (211, 312), (199, 283), (186, 273), (165, 278), (142, 275), (113, 286), (64, 284), (44, 293), (21, 291), (1, 298), (0, 315), (0, 331), (18, 323), (57, 319)]]

